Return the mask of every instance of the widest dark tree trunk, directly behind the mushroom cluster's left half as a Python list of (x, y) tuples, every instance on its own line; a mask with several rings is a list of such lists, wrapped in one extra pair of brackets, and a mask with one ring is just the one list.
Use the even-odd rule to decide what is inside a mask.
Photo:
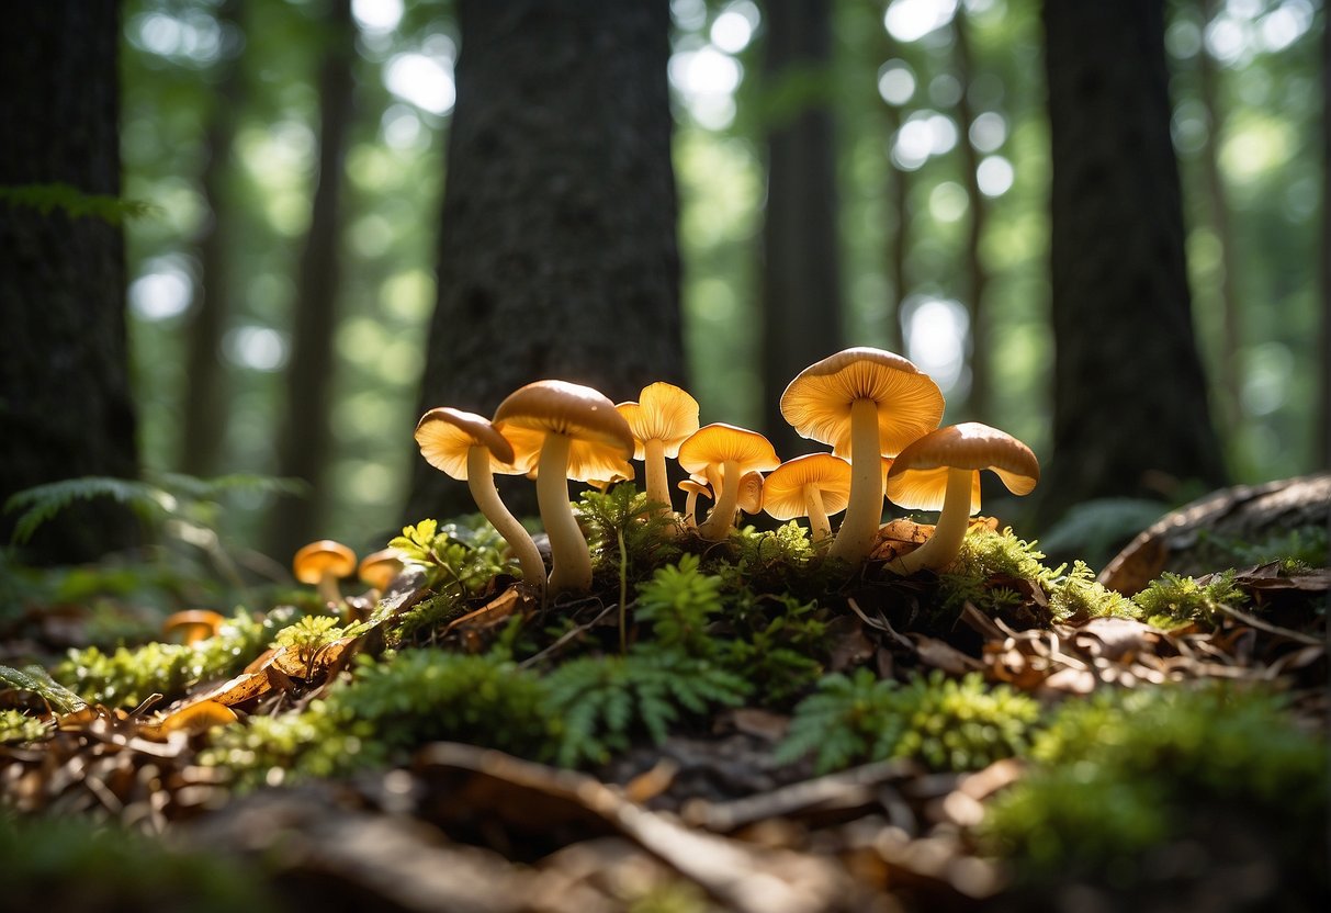
[[(662, 0), (461, 0), (458, 100), (421, 411), (559, 378), (681, 382)], [(410, 520), (474, 511), (415, 456)], [(507, 479), (500, 480), (508, 482)], [(503, 484), (515, 512), (534, 486)]]

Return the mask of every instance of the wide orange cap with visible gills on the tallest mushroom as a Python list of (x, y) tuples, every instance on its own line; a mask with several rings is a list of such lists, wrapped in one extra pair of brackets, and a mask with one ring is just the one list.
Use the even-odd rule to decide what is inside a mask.
[(781, 394), (781, 415), (804, 438), (845, 450), (851, 406), (878, 405), (878, 450), (892, 456), (942, 421), (942, 391), (909, 359), (881, 349), (856, 347), (800, 371)]

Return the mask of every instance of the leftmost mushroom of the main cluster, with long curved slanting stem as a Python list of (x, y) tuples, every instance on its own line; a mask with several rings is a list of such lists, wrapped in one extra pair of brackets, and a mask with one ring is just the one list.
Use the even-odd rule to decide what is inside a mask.
[(484, 415), (447, 406), (431, 409), (421, 417), (415, 439), (430, 466), (454, 479), (466, 480), (476, 507), (518, 559), (523, 583), (544, 592), (546, 563), (540, 560), (536, 543), (495, 490), (496, 470), (508, 474), (522, 471), (514, 464), (518, 460), (508, 439)]

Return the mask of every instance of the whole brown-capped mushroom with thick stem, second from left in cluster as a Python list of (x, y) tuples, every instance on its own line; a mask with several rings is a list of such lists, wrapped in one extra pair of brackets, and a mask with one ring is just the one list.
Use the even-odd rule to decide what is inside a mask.
[(568, 503), (568, 479), (608, 479), (624, 474), (626, 467), (632, 476), (628, 422), (615, 411), (615, 403), (591, 387), (536, 381), (499, 403), (494, 425), (504, 435), (510, 430), (539, 435), (536, 504), (550, 536), (551, 591), (591, 590), (591, 554)]

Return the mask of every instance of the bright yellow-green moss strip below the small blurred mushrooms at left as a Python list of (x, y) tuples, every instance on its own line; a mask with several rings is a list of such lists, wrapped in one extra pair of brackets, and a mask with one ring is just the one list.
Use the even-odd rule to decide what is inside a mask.
[(149, 643), (109, 653), (97, 647), (71, 649), (53, 677), (110, 707), (137, 707), (154, 693), (173, 700), (201, 681), (240, 672), (293, 620), (294, 611), (277, 608), (262, 618), (237, 612), (216, 636), (193, 644)]

